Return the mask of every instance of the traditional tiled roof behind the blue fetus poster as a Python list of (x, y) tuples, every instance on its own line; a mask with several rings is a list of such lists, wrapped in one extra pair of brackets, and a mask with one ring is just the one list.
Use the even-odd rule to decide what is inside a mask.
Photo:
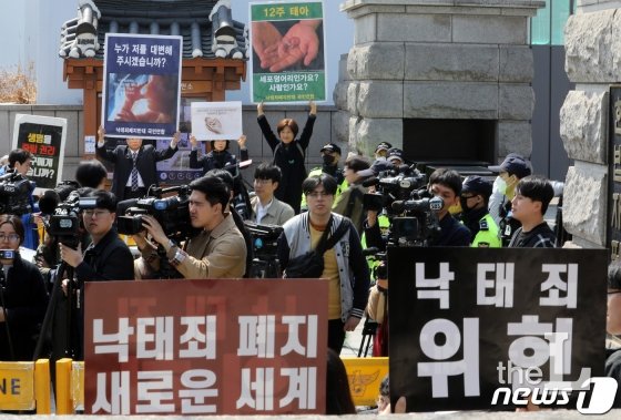
[(59, 55), (103, 59), (106, 32), (182, 35), (184, 59), (246, 59), (247, 29), (232, 19), (231, 0), (80, 0)]

